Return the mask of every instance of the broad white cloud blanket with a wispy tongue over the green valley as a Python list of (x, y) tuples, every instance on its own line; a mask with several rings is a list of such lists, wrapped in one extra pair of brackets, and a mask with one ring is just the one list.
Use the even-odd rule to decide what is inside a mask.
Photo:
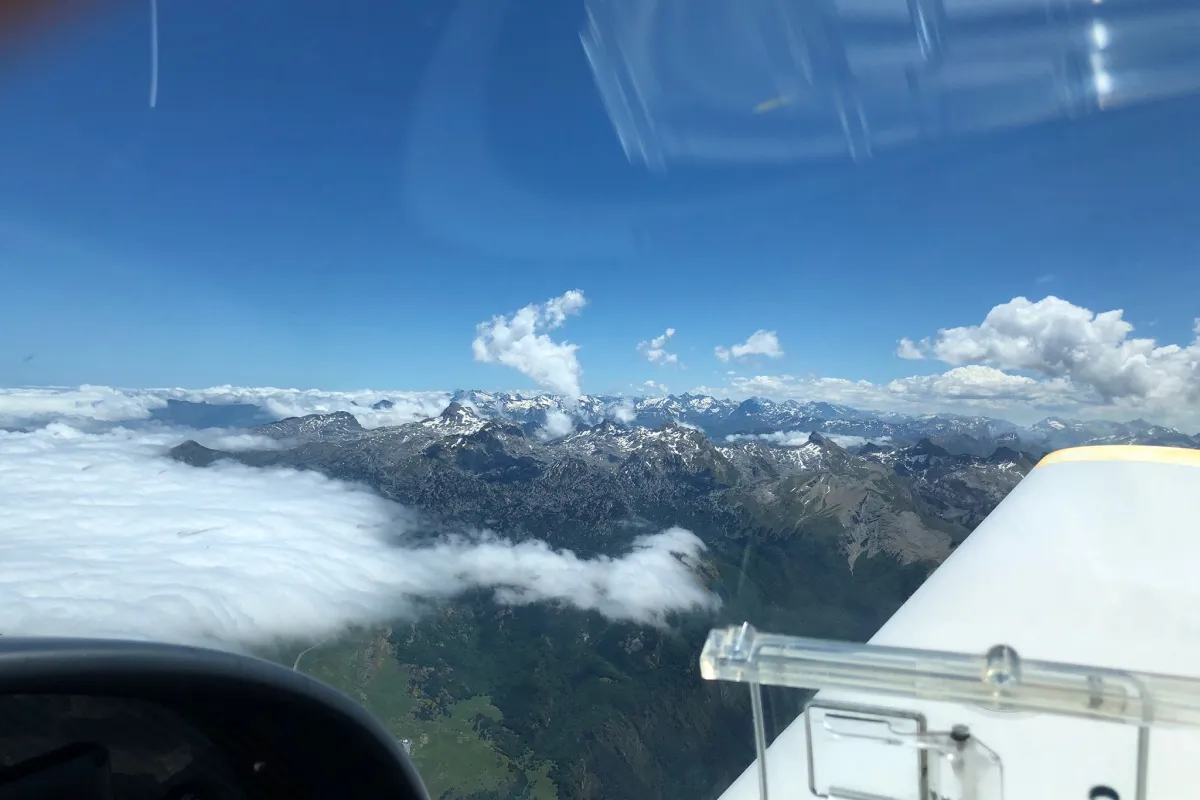
[(654, 624), (713, 608), (673, 528), (622, 558), (492, 534), (432, 545), (416, 518), (312, 471), (163, 457), (178, 433), (0, 433), (0, 632), (248, 646), (414, 614), (473, 587)]

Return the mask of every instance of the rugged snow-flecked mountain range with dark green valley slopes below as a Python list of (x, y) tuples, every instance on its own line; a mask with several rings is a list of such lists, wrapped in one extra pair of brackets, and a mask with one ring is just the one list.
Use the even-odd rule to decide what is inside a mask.
[[(434, 796), (475, 800), (715, 798), (752, 759), (752, 740), (744, 691), (700, 680), (710, 627), (750, 620), (865, 640), (1046, 450), (1200, 444), (1140, 421), (1021, 428), (824, 403), (683, 395), (572, 405), (478, 391), (406, 425), (367, 429), (340, 411), (252, 431), (275, 446), (190, 440), (170, 456), (360, 482), (425, 515), (430, 536), (487, 528), (592, 557), (679, 525), (706, 543), (715, 616), (647, 627), (476, 591), (310, 657), (313, 674), (386, 715)], [(768, 692), (769, 721), (786, 724), (802, 700)], [(450, 732), (469, 747), (439, 747)], [(467, 764), (468, 751), (484, 754)], [(462, 780), (479, 770), (482, 783)]]

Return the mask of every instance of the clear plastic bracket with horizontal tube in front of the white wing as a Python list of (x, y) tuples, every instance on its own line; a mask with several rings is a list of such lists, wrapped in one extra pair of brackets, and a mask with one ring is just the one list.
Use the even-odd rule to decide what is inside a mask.
[[(844, 691), (1132, 726), (1136, 800), (1146, 798), (1153, 727), (1200, 724), (1200, 681), (1100, 667), (1024, 661), (1007, 645), (985, 655), (781, 636), (743, 624), (715, 628), (700, 658), (706, 680), (751, 690), (758, 788), (768, 796), (762, 686)], [(1002, 800), (1004, 765), (964, 724), (929, 730), (912, 710), (817, 697), (804, 711), (809, 790), (844, 800)], [(840, 754), (840, 757), (833, 757)], [(869, 763), (887, 769), (847, 770)], [(839, 769), (842, 772), (839, 772)], [(871, 772), (889, 776), (872, 784)], [(896, 781), (896, 776), (911, 775)], [(876, 781), (878, 783), (878, 781)]]

